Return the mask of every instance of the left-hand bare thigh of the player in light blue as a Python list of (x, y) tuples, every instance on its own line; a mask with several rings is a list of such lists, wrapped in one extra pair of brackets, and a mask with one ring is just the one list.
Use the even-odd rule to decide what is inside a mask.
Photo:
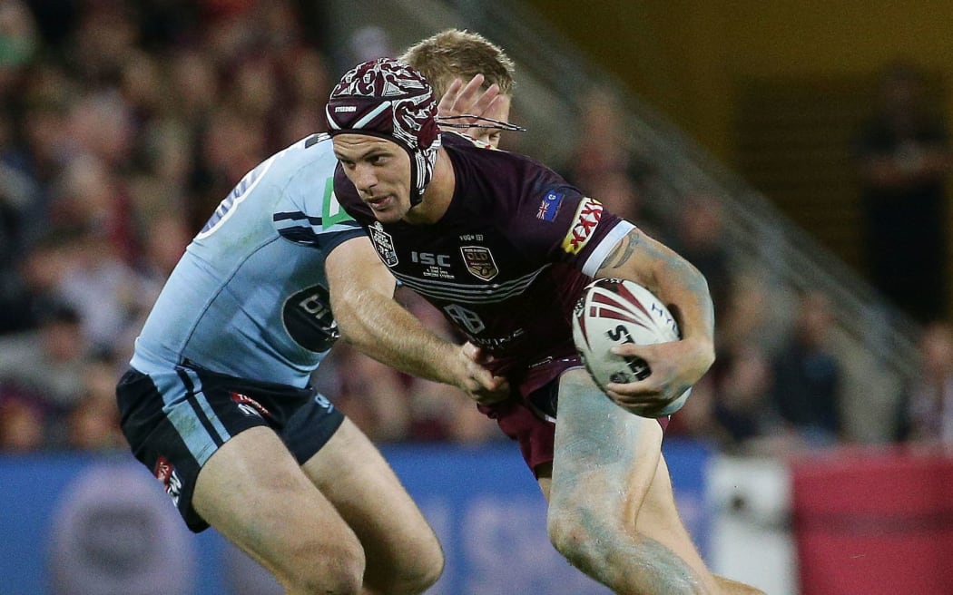
[(363, 564), (354, 532), (266, 426), (215, 451), (199, 471), (193, 507), (279, 578), (306, 565)]

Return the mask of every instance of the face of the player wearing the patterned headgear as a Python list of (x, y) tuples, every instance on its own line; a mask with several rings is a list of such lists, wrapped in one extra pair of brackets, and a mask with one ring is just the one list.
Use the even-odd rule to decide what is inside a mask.
[(382, 223), (411, 208), (411, 157), (396, 143), (365, 134), (338, 134), (335, 156), (362, 201)]

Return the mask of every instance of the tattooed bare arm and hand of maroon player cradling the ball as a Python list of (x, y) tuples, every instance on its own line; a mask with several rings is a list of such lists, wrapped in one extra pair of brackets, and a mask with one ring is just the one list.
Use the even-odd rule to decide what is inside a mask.
[(663, 406), (692, 387), (715, 361), (715, 313), (708, 283), (698, 268), (671, 248), (632, 228), (606, 255), (596, 277), (629, 279), (652, 291), (676, 317), (681, 340), (655, 346), (624, 345), (614, 350), (639, 356), (652, 369), (645, 380), (610, 384), (623, 405)]

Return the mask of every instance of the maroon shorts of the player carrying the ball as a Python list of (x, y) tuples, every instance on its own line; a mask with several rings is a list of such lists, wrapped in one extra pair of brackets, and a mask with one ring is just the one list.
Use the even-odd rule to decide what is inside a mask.
[[(484, 415), (497, 421), (504, 434), (519, 443), (523, 460), (534, 475), (538, 466), (553, 461), (559, 376), (575, 367), (582, 367), (578, 356), (547, 360), (529, 367), (517, 383), (520, 399), (478, 407)], [(659, 425), (664, 431), (668, 417), (659, 418)]]

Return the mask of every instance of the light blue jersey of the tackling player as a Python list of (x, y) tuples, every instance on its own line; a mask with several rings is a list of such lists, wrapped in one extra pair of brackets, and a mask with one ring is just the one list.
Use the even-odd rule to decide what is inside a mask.
[(324, 260), (364, 232), (333, 191), (325, 134), (250, 171), (172, 271), (132, 367), (152, 374), (192, 362), (232, 376), (304, 387), (337, 338)]

